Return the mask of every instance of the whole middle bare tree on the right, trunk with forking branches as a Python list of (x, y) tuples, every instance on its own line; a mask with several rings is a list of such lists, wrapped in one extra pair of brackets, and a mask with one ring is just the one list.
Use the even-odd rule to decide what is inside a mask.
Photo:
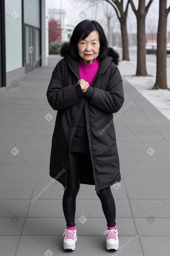
[[(138, 9), (135, 8), (134, 1), (129, 0), (132, 10), (137, 18), (137, 70), (136, 76), (147, 76), (146, 54), (145, 54), (145, 17), (153, 0), (150, 0), (145, 6), (145, 0), (139, 0)], [(161, 1), (162, 2), (162, 1)]]

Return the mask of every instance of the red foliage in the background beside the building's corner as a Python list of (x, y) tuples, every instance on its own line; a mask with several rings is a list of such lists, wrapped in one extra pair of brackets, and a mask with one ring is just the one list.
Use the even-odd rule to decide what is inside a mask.
[[(57, 38), (60, 39), (62, 29), (60, 28), (59, 21), (54, 19), (48, 21), (48, 39), (49, 43), (52, 43)], [(60, 39), (61, 40), (61, 39)], [(60, 42), (60, 40), (58, 42)]]

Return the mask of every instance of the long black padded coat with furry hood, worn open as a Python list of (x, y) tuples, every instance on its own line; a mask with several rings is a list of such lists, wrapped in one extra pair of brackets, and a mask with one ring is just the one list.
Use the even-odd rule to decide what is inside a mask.
[(100, 61), (94, 81), (81, 98), (76, 96), (74, 88), (80, 79), (79, 60), (71, 57), (69, 43), (63, 43), (60, 55), (64, 58), (54, 68), (47, 90), (48, 102), (57, 110), (50, 176), (67, 189), (69, 151), (84, 106), (93, 170), (88, 170), (86, 161), (82, 163), (80, 183), (95, 185), (98, 192), (121, 180), (113, 123), (113, 113), (118, 112), (124, 102), (122, 77), (116, 66), (119, 54), (109, 47), (108, 55)]

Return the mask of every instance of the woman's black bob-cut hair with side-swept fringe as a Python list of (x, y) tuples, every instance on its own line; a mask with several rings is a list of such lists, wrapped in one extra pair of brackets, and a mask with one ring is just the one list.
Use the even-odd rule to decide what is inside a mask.
[[(100, 40), (100, 50), (98, 59), (103, 60), (108, 53), (108, 41), (102, 26), (97, 21), (83, 20), (73, 30), (70, 38), (70, 53), (72, 58), (79, 59), (77, 44), (80, 39), (85, 39), (92, 31), (98, 31)], [(82, 36), (82, 34), (84, 35)], [(81, 37), (82, 36), (82, 37)], [(80, 38), (81, 37), (81, 38)]]

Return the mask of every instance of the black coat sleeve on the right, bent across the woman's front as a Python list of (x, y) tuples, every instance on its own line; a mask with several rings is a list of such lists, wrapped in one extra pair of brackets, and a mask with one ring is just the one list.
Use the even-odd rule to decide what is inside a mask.
[(124, 102), (122, 77), (118, 67), (113, 66), (106, 91), (89, 86), (84, 97), (90, 99), (91, 105), (105, 112), (118, 112)]

